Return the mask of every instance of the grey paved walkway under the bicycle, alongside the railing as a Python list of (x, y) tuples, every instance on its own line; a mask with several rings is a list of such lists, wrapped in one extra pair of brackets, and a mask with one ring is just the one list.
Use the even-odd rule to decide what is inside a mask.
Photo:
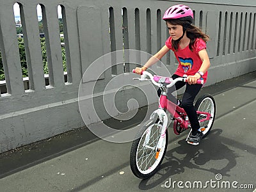
[[(214, 95), (217, 105), (211, 133), (195, 147), (184, 141), (188, 132), (176, 136), (170, 130), (161, 169), (150, 179), (132, 175), (131, 142), (99, 140), (85, 128), (2, 154), (0, 191), (234, 191), (233, 186), (253, 191), (256, 72), (206, 87), (200, 94), (205, 92)], [(199, 181), (204, 189), (195, 189)]]

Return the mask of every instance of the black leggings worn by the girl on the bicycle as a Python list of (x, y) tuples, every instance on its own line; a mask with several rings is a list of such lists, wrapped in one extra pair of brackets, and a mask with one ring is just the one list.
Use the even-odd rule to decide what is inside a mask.
[[(180, 77), (180, 76), (177, 76), (175, 74), (172, 76), (173, 79), (176, 79), (177, 77)], [(186, 90), (182, 97), (182, 108), (186, 111), (188, 115), (192, 131), (196, 132), (198, 129), (200, 129), (200, 124), (198, 122), (196, 109), (193, 102), (195, 100), (196, 95), (202, 88), (202, 84), (188, 84), (182, 81), (178, 81), (177, 83), (175, 83), (175, 86), (172, 86), (171, 88), (169, 88), (167, 95), (169, 100), (171, 100), (174, 103), (177, 103), (177, 99), (172, 95), (172, 93), (182, 88), (185, 84), (186, 84)], [(161, 91), (157, 90), (157, 93), (160, 96)]]

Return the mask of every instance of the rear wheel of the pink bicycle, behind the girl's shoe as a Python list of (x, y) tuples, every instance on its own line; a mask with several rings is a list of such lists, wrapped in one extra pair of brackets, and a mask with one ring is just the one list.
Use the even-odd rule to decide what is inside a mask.
[[(215, 114), (216, 114), (216, 104), (212, 95), (210, 94), (202, 95), (198, 100), (196, 100), (195, 109), (196, 111), (202, 111), (202, 112), (211, 114), (210, 120), (205, 120), (204, 122), (200, 123), (200, 127), (201, 127), (200, 129), (204, 134), (203, 136), (204, 138), (211, 131), (211, 128), (215, 119)], [(201, 120), (204, 118), (205, 118), (205, 115), (198, 114), (198, 120)]]

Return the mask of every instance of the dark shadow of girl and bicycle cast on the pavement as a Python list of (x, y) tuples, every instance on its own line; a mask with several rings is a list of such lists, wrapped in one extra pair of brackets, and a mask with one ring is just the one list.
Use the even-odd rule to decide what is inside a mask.
[[(166, 152), (164, 158), (167, 162), (161, 165), (159, 172), (149, 179), (141, 180), (139, 188), (141, 190), (147, 190), (160, 186), (166, 180), (169, 180), (172, 175), (183, 173), (185, 168), (202, 170), (204, 172), (214, 173), (214, 175), (221, 174), (222, 176), (230, 176), (228, 172), (236, 166), (236, 158), (239, 156), (234, 150), (231, 150), (225, 145), (225, 143), (230, 143), (230, 140), (221, 137), (221, 132), (221, 129), (212, 130), (209, 136), (204, 138), (204, 140), (201, 141), (202, 143), (197, 147), (188, 145), (184, 138), (179, 140), (178, 147)], [(237, 145), (243, 144), (239, 143)], [(179, 159), (176, 157), (175, 153), (184, 155), (184, 157)], [(220, 169), (203, 168), (204, 164), (209, 161), (222, 159), (226, 159), (228, 163), (223, 164), (223, 167)], [(191, 181), (192, 180), (194, 180), (194, 178), (191, 178)]]

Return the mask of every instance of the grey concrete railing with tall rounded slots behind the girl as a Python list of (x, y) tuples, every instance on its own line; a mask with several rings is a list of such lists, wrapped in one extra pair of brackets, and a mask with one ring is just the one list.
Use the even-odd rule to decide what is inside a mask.
[[(228, 1), (229, 2), (229, 1)], [(24, 88), (13, 4), (19, 3), (28, 63), (29, 88)], [(0, 0), (0, 49), (6, 93), (0, 97), (0, 152), (83, 127), (77, 92), (83, 73), (100, 56), (111, 51), (137, 49), (154, 54), (168, 31), (161, 19), (173, 4), (188, 4), (195, 13), (195, 25), (210, 37), (211, 58), (207, 85), (256, 70), (254, 0), (232, 1), (82, 1), (82, 0)], [(244, 2), (243, 2), (244, 3)], [(47, 49), (49, 85), (45, 84), (36, 6), (42, 8)], [(57, 8), (61, 6), (67, 81), (63, 76)], [(113, 58), (112, 58), (113, 59)], [(172, 52), (162, 59), (174, 72), (177, 61)], [(125, 62), (125, 61), (124, 61)], [(134, 65), (99, 66), (106, 70), (97, 84), (100, 98), (104, 86), (116, 75), (130, 72)], [(90, 88), (93, 81), (83, 81)], [(131, 98), (136, 92), (127, 92)], [(99, 108), (103, 108), (99, 102)], [(141, 102), (140, 106), (143, 106)], [(101, 110), (102, 118), (108, 114)], [(92, 119), (92, 123), (94, 120)]]

